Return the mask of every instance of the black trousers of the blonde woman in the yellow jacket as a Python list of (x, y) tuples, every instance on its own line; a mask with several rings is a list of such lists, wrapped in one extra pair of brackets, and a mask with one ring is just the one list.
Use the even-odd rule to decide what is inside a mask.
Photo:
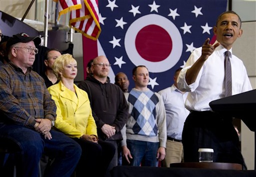
[(104, 177), (115, 154), (115, 146), (102, 140), (98, 143), (78, 138), (74, 140), (82, 148), (81, 159), (76, 167), (76, 177), (84, 177), (91, 173), (94, 177)]

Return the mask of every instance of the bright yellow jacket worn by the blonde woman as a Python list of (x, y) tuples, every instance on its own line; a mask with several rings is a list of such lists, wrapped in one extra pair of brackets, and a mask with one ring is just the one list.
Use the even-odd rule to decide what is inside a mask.
[(74, 138), (97, 135), (97, 127), (92, 117), (92, 109), (87, 93), (74, 84), (76, 93), (70, 91), (60, 81), (48, 87), (57, 106), (55, 128)]

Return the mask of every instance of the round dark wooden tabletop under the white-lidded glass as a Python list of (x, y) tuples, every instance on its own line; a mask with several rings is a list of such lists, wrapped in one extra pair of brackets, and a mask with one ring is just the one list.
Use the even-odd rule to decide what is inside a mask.
[(208, 169), (222, 169), (222, 170), (242, 170), (241, 164), (220, 163), (220, 162), (185, 162), (173, 163), (170, 167), (183, 168), (208, 168)]

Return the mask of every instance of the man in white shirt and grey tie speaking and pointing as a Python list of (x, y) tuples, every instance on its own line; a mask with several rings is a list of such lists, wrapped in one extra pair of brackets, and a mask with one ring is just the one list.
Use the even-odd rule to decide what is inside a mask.
[(212, 148), (213, 162), (238, 163), (246, 170), (232, 117), (214, 113), (209, 106), (213, 100), (252, 90), (243, 62), (232, 54), (232, 44), (243, 32), (240, 17), (223, 12), (213, 32), (218, 42), (209, 44), (208, 38), (195, 49), (177, 80), (179, 89), (189, 92), (185, 106), (190, 114), (182, 132), (184, 162), (198, 162), (198, 149)]

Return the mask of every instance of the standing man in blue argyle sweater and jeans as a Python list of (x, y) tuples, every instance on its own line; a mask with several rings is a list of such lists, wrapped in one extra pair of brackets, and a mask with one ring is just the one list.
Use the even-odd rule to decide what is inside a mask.
[[(122, 129), (123, 154), (131, 166), (156, 166), (165, 157), (166, 114), (161, 96), (148, 89), (146, 66), (132, 70), (135, 88), (124, 93), (129, 105), (129, 118)], [(131, 162), (130, 162), (131, 161)]]

